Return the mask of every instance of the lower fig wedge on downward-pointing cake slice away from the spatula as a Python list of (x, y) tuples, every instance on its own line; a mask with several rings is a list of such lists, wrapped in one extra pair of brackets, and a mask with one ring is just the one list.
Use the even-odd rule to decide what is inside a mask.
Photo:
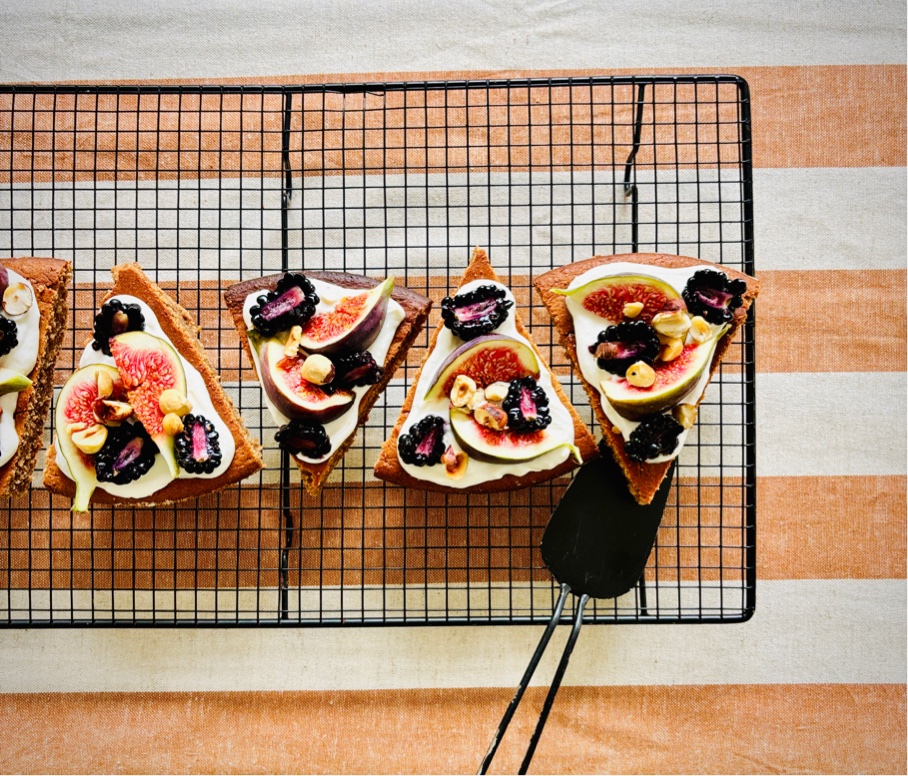
[(352, 391), (326, 391), (303, 379), (305, 357), (288, 358), (278, 340), (265, 340), (259, 351), (259, 372), (265, 394), (288, 418), (327, 423), (353, 405)]

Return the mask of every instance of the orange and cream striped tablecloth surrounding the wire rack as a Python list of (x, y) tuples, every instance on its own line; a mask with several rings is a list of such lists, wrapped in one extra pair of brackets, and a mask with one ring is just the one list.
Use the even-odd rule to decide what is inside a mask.
[[(585, 630), (533, 770), (905, 772), (903, 4), (10, 5), (4, 82), (744, 77), (763, 287), (756, 615)], [(0, 769), (471, 772), (538, 636), (3, 631)], [(516, 770), (542, 693), (496, 770)]]

